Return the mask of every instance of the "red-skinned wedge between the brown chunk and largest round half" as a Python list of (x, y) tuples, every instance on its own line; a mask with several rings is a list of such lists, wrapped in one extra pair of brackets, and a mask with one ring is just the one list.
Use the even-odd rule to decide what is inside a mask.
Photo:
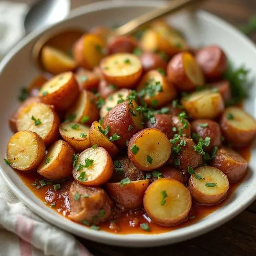
[(128, 184), (107, 183), (109, 195), (118, 205), (125, 209), (136, 210), (143, 204), (143, 196), (150, 180), (131, 181)]

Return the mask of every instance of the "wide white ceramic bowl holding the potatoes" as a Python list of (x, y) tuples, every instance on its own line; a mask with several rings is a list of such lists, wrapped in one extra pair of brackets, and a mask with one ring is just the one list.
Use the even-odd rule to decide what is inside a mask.
[[(94, 25), (113, 26), (128, 20), (164, 4), (162, 1), (105, 1), (79, 8), (65, 21), (60, 22), (48, 30), (58, 30), (66, 27), (91, 28)], [(188, 41), (194, 45), (218, 44), (228, 54), (229, 58), (246, 67), (256, 74), (256, 48), (252, 42), (239, 31), (221, 19), (205, 11), (195, 14), (180, 14), (170, 18), (172, 24), (185, 32)], [(127, 234), (119, 235), (105, 231), (95, 231), (58, 215), (55, 211), (46, 207), (31, 191), (22, 183), (15, 171), (5, 164), (3, 158), (6, 153), (6, 145), (12, 133), (8, 126), (8, 118), (17, 108), (16, 96), (20, 87), (29, 82), (38, 74), (31, 60), (31, 49), (36, 39), (42, 32), (32, 33), (15, 46), (0, 64), (0, 110), (2, 125), (0, 126), (0, 164), (1, 174), (15, 195), (22, 200), (31, 210), (39, 216), (68, 230), (77, 236), (96, 242), (119, 246), (159, 246), (177, 243), (189, 238), (199, 236), (227, 222), (239, 212), (244, 210), (256, 198), (256, 151), (252, 151), (250, 168), (243, 183), (235, 193), (225, 202), (225, 205), (213, 214), (199, 222), (174, 231), (161, 234)], [(250, 92), (250, 98), (245, 103), (245, 109), (255, 116), (254, 96), (255, 82)]]

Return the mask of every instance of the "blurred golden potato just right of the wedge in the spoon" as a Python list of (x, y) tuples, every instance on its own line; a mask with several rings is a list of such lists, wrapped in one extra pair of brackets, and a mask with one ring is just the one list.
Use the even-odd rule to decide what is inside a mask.
[(104, 56), (105, 42), (98, 35), (85, 34), (75, 42), (73, 55), (78, 66), (92, 70)]

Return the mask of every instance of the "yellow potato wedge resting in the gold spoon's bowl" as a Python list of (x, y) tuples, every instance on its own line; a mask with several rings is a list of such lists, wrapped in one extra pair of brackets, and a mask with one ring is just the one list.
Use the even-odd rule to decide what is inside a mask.
[(50, 46), (44, 46), (41, 51), (41, 63), (45, 70), (57, 75), (62, 72), (72, 71), (76, 62), (65, 53)]

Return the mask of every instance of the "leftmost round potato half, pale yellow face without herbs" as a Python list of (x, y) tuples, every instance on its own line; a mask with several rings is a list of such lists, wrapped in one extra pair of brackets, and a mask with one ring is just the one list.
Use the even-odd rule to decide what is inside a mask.
[(30, 131), (14, 134), (8, 142), (7, 159), (14, 169), (29, 172), (44, 159), (46, 146), (42, 138)]

